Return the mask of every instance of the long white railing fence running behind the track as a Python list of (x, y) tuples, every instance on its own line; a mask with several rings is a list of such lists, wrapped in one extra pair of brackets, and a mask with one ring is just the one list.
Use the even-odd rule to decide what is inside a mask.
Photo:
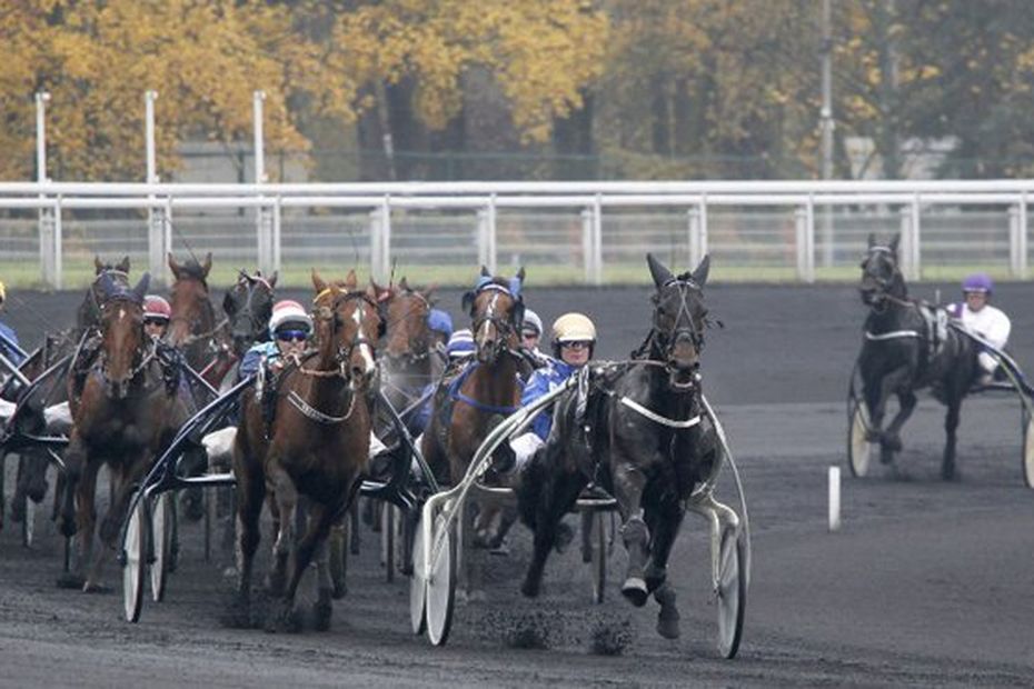
[(165, 256), (466, 283), (478, 264), (535, 283), (645, 282), (652, 251), (716, 280), (855, 280), (866, 239), (902, 236), (912, 280), (1025, 279), (1034, 180), (937, 182), (0, 183), (0, 276), (76, 287), (95, 254), (168, 279)]

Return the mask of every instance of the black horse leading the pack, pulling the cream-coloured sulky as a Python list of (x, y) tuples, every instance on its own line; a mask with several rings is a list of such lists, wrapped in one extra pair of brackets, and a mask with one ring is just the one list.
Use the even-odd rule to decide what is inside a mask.
[(657, 291), (636, 360), (586, 366), (588, 385), (578, 386), (581, 393), (573, 388), (560, 396), (553, 432), (520, 477), (518, 510), (535, 531), (521, 592), (538, 596), (557, 525), (596, 481), (614, 496), (622, 516), (628, 551), (622, 593), (637, 607), (653, 593), (660, 603), (658, 632), (676, 638), (675, 592), (665, 585), (668, 556), (685, 500), (718, 461), (714, 427), (702, 413), (698, 372), (709, 260), (679, 276), (652, 256), (647, 262)]

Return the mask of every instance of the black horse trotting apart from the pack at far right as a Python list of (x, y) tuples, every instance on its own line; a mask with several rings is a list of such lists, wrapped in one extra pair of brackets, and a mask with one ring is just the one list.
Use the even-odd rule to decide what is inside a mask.
[[(944, 430), (947, 442), (941, 477), (955, 478), (955, 429), (962, 400), (977, 375), (977, 350), (970, 338), (947, 328), (946, 313), (908, 298), (908, 288), (897, 264), (895, 237), (889, 244), (876, 243), (869, 234), (868, 252), (862, 261), (862, 302), (869, 307), (865, 341), (858, 355), (862, 390), (869, 413), (868, 440), (879, 443), (879, 459), (894, 461), (901, 451), (901, 429), (915, 409), (915, 391), (932, 386), (947, 407)], [(941, 323), (938, 326), (938, 322)], [(887, 400), (897, 396), (901, 409), (883, 429)]]

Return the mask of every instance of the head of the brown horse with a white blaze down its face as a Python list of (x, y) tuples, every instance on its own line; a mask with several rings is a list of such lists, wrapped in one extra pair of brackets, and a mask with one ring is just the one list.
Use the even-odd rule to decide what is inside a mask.
[(374, 287), (358, 289), (355, 271), (346, 280), (328, 284), (314, 270), (312, 287), (312, 320), (322, 362), (332, 361), (352, 388), (369, 388), (377, 372), (376, 344), (386, 324), (380, 294)]

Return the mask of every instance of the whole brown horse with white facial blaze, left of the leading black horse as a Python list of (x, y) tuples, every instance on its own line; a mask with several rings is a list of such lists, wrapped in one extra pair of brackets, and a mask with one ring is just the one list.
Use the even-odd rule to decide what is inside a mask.
[[(372, 288), (358, 290), (355, 272), (344, 284), (327, 284), (314, 271), (316, 350), (286, 362), (271, 427), (266, 427), (262, 405), (255, 396), (242, 400), (233, 447), (239, 623), (248, 620), (259, 516), (268, 496), (277, 526), (269, 590), (281, 601), (267, 627), (296, 628), (295, 593), (317, 552), (316, 626), (330, 625), (332, 587), (324, 543), (367, 472), (371, 426), (367, 397), (384, 323)], [(301, 496), (307, 498), (308, 526), (297, 540), (295, 510)], [(292, 555), (289, 569), (288, 555)]]

